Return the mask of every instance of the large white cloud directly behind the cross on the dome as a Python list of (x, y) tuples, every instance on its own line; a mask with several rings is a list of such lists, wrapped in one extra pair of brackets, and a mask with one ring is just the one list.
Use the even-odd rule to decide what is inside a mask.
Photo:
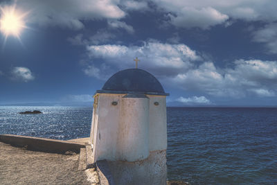
[(139, 67), (150, 69), (155, 74), (175, 76), (190, 68), (190, 61), (202, 60), (185, 44), (162, 44), (151, 40), (143, 46), (91, 45), (87, 46), (89, 58), (101, 58), (107, 64), (119, 67), (134, 67), (134, 57), (138, 57)]

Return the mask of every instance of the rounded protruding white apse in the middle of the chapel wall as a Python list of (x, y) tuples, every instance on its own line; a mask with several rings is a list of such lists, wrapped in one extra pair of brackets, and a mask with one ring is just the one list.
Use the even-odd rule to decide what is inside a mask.
[(149, 155), (149, 98), (123, 97), (117, 139), (118, 159), (137, 161)]

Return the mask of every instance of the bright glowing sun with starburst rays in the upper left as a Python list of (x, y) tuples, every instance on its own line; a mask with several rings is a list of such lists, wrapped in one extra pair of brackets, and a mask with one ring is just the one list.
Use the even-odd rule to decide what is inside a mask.
[(1, 8), (1, 33), (6, 37), (12, 35), (19, 38), (21, 30), (26, 28), (24, 17), (26, 17), (26, 13), (20, 14), (19, 11), (15, 9), (15, 5)]

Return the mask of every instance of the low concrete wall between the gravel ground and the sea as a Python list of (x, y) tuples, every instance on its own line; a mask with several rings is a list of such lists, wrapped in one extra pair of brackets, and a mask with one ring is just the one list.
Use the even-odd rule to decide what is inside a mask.
[(0, 141), (11, 146), (27, 147), (28, 150), (64, 154), (67, 151), (79, 153), (85, 145), (71, 141), (45, 139), (33, 136), (18, 136), (12, 134), (0, 135)]

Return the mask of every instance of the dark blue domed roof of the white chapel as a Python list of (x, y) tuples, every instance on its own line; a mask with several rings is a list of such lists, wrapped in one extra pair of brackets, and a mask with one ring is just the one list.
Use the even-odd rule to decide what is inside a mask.
[(115, 73), (97, 93), (156, 94), (168, 96), (161, 83), (143, 69), (125, 69)]

